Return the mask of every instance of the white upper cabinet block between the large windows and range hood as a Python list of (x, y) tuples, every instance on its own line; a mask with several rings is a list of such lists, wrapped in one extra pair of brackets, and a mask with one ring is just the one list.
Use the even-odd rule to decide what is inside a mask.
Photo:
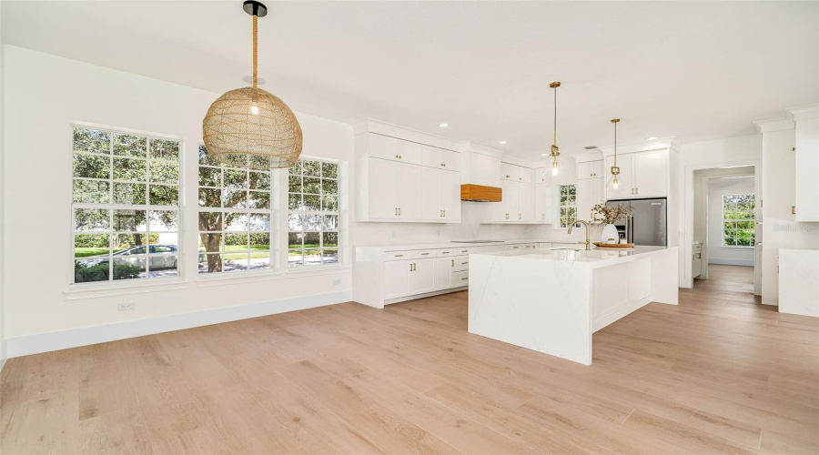
[[(460, 221), (460, 153), (410, 137), (371, 131), (356, 136), (359, 221)], [(430, 136), (430, 144), (446, 142)]]

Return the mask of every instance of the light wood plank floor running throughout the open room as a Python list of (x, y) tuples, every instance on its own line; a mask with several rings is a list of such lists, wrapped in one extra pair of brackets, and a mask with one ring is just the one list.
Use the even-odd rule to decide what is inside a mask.
[(819, 452), (819, 324), (722, 281), (602, 329), (591, 367), (470, 335), (466, 292), (10, 359), (0, 451)]

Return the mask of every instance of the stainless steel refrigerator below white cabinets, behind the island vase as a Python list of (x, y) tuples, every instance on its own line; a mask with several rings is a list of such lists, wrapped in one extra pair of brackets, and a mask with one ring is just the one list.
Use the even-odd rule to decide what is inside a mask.
[(614, 223), (620, 238), (635, 245), (668, 245), (668, 205), (665, 197), (658, 199), (615, 199), (606, 201), (606, 206), (622, 204), (632, 207), (631, 217)]

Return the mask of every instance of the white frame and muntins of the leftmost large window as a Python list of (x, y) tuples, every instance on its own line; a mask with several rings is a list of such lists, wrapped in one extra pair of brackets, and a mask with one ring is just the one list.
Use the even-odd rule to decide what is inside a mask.
[[(136, 206), (136, 205), (126, 205), (126, 204), (116, 204), (113, 199), (109, 199), (105, 204), (96, 204), (96, 203), (87, 203), (87, 202), (75, 202), (74, 201), (74, 182), (76, 179), (79, 180), (104, 180), (107, 181), (111, 187), (109, 188), (109, 195), (113, 197), (114, 195), (114, 169), (113, 166), (109, 167), (109, 177), (107, 179), (93, 179), (90, 177), (75, 177), (74, 175), (74, 157), (75, 157), (75, 150), (74, 150), (74, 130), (76, 128), (82, 129), (93, 129), (97, 131), (105, 131), (111, 135), (133, 135), (133, 136), (143, 136), (147, 139), (162, 139), (162, 140), (171, 140), (176, 141), (179, 144), (178, 148), (178, 158), (177, 158), (177, 206), (151, 206), (150, 202), (150, 194), (149, 194), (149, 186), (150, 186), (150, 167), (146, 167), (146, 204), (144, 206)], [(113, 140), (113, 139), (112, 139)], [(185, 212), (185, 138), (183, 136), (176, 136), (176, 135), (167, 135), (163, 133), (155, 133), (151, 131), (144, 131), (134, 128), (126, 128), (120, 126), (110, 126), (110, 125), (102, 125), (97, 123), (85, 122), (81, 120), (69, 120), (67, 124), (67, 134), (66, 134), (66, 149), (69, 151), (68, 159), (69, 159), (69, 166), (67, 166), (68, 170), (68, 190), (67, 193), (67, 209), (68, 209), (68, 219), (69, 219), (69, 226), (68, 232), (68, 254), (70, 255), (70, 262), (67, 263), (68, 270), (66, 272), (66, 278), (68, 279), (68, 289), (66, 290), (66, 297), (69, 296), (70, 293), (75, 292), (85, 292), (85, 291), (93, 291), (94, 289), (110, 289), (110, 288), (139, 288), (139, 287), (168, 287), (168, 286), (175, 286), (180, 282), (183, 282), (186, 278), (186, 269), (185, 269), (185, 251), (184, 248), (184, 238), (185, 238), (185, 222), (184, 222), (184, 212)], [(83, 154), (82, 152), (80, 152)], [(113, 162), (115, 155), (113, 150), (110, 150), (110, 160), (109, 163)], [(150, 157), (150, 149), (147, 149), (146, 154), (146, 163), (151, 161)], [(169, 162), (167, 160), (159, 160), (160, 162)], [(168, 211), (173, 210), (177, 212), (177, 273), (175, 275), (168, 275), (168, 276), (160, 276), (160, 277), (150, 277), (150, 250), (148, 249), (148, 254), (145, 255), (146, 258), (146, 277), (145, 278), (131, 278), (131, 279), (113, 279), (111, 276), (111, 268), (113, 267), (113, 259), (114, 259), (114, 248), (113, 248), (113, 239), (108, 239), (108, 262), (109, 262), (109, 278), (106, 280), (100, 281), (88, 281), (88, 282), (79, 282), (75, 281), (76, 274), (75, 274), (75, 264), (76, 264), (76, 250), (75, 250), (75, 238), (76, 235), (87, 234), (87, 235), (95, 235), (95, 234), (105, 234), (108, 236), (116, 236), (116, 229), (114, 228), (113, 224), (109, 224), (109, 228), (106, 231), (88, 231), (88, 232), (80, 232), (76, 231), (76, 209), (77, 208), (99, 208), (99, 209), (107, 209), (110, 210), (110, 214), (108, 216), (109, 222), (113, 220), (114, 217), (114, 210), (145, 210), (146, 213), (146, 223), (147, 227), (144, 232), (135, 232), (137, 234), (144, 234), (147, 240), (147, 246), (150, 246), (150, 234), (151, 230), (149, 229), (149, 219), (148, 219), (148, 212), (150, 211)], [(164, 232), (164, 231), (163, 231)], [(170, 232), (170, 231), (168, 231)], [(133, 234), (133, 233), (132, 233)]]

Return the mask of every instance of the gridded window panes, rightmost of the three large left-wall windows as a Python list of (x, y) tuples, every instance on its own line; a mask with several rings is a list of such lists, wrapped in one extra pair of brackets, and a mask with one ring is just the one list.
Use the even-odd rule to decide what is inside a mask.
[(288, 267), (339, 262), (339, 164), (299, 159), (288, 171)]

